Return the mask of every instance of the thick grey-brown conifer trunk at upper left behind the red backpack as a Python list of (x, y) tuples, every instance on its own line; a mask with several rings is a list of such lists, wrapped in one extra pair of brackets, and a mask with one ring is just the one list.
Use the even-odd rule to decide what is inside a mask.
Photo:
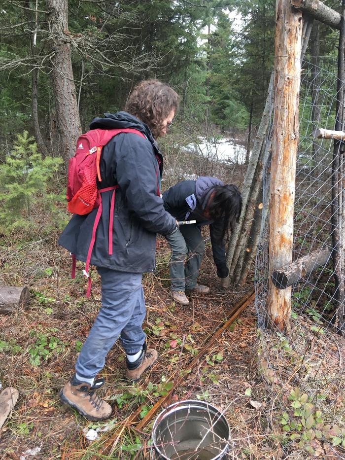
[(47, 0), (48, 23), (51, 34), (52, 79), (57, 124), (65, 163), (73, 156), (75, 144), (81, 134), (75, 85), (70, 54), (67, 0)]

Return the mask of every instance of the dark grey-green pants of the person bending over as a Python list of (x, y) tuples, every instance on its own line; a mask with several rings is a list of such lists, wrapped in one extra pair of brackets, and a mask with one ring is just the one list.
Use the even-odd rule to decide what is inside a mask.
[(173, 235), (166, 236), (166, 239), (173, 251), (170, 259), (172, 290), (193, 289), (205, 252), (200, 228), (194, 224), (181, 225), (179, 230)]

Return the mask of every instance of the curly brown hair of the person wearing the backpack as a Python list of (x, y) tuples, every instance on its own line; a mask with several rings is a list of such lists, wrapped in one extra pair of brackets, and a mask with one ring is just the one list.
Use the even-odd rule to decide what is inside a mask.
[(153, 137), (164, 132), (163, 120), (176, 110), (179, 96), (173, 88), (156, 79), (143, 80), (130, 94), (126, 110), (150, 128)]

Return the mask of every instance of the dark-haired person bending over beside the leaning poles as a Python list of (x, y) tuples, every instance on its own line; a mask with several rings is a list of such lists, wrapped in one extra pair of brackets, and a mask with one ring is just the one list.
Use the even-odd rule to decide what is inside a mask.
[[(163, 193), (164, 208), (176, 220), (196, 220), (195, 224), (176, 227), (167, 235), (172, 256), (170, 259), (171, 294), (173, 299), (188, 305), (186, 293), (207, 294), (209, 287), (197, 284), (205, 243), (201, 227), (209, 225), (213, 260), (219, 278), (226, 278), (224, 241), (228, 229), (239, 221), (242, 198), (236, 185), (224, 184), (216, 177), (184, 180)], [(186, 260), (187, 256), (187, 260)]]

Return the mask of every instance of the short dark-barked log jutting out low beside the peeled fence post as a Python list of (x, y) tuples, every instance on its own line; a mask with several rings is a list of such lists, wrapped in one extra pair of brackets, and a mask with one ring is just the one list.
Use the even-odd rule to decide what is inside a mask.
[(275, 270), (272, 274), (272, 283), (278, 289), (286, 289), (298, 283), (302, 278), (311, 274), (313, 270), (316, 270), (316, 268), (326, 265), (331, 257), (331, 253), (331, 248), (322, 250), (317, 249), (308, 255), (300, 257), (284, 268)]

